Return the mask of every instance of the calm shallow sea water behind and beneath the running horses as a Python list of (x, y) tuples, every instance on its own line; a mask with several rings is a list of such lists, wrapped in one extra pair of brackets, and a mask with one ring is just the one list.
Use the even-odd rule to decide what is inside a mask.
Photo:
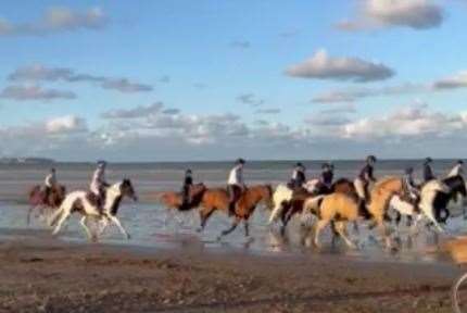
[[(292, 161), (262, 161), (249, 162), (244, 175), (248, 184), (269, 183), (277, 185), (287, 181), (291, 175)], [(307, 167), (307, 178), (316, 177), (319, 174), (320, 161), (303, 162)], [(336, 161), (336, 177), (353, 178), (357, 174), (363, 162), (358, 161)], [(444, 175), (453, 165), (454, 160), (436, 161), (433, 170), (437, 174)], [(224, 186), (230, 162), (197, 162), (197, 163), (126, 163), (109, 164), (108, 180), (118, 181), (128, 177), (140, 195), (152, 191), (179, 190), (184, 177), (185, 168), (192, 168), (194, 179), (204, 181), (207, 186)], [(380, 161), (376, 166), (376, 176), (401, 175), (406, 166), (414, 166), (420, 172), (421, 161)], [(45, 223), (35, 220), (33, 225), (26, 225), (26, 193), (30, 186), (41, 184), (48, 173), (48, 165), (0, 165), (0, 228), (24, 229), (24, 228), (46, 228)], [(58, 163), (58, 178), (65, 184), (68, 190), (88, 188), (92, 175), (93, 164), (79, 163)], [(419, 173), (417, 173), (419, 174)], [(142, 197), (144, 199), (144, 197)], [(254, 239), (243, 237), (243, 228), (226, 237), (223, 241), (217, 241), (218, 234), (229, 227), (230, 221), (223, 213), (214, 214), (203, 234), (198, 234), (194, 229), (199, 225), (197, 211), (172, 215), (157, 203), (150, 202), (124, 202), (119, 211), (121, 221), (131, 234), (132, 239), (125, 241), (117, 229), (110, 227), (102, 238), (103, 242), (117, 242), (127, 245), (138, 245), (148, 248), (172, 247), (182, 248), (186, 245), (193, 247), (198, 245), (204, 248), (234, 248), (255, 253), (302, 253), (303, 248), (300, 242), (300, 231), (298, 221), (289, 227), (289, 236), (285, 241), (277, 230), (273, 231), (267, 227), (266, 221), (268, 212), (258, 208), (251, 221), (251, 234)], [(452, 220), (450, 228), (452, 231), (464, 233), (464, 222), (460, 218)], [(361, 251), (349, 251), (338, 249), (339, 253), (357, 258), (373, 259), (375, 255), (381, 258), (381, 249), (371, 241), (369, 233), (363, 228), (363, 234), (353, 234), (353, 238), (359, 238), (365, 249)], [(466, 228), (467, 229), (467, 228)], [(67, 227), (61, 235), (66, 240), (84, 240), (85, 236), (78, 226), (76, 217), (71, 218)], [(406, 253), (391, 255), (396, 260), (434, 260), (436, 256), (427, 254), (427, 250), (434, 247), (436, 238), (430, 236), (418, 237), (411, 245)], [(324, 236), (326, 245), (329, 241), (329, 231)], [(328, 242), (329, 245), (329, 242)], [(415, 247), (415, 248), (414, 248)], [(306, 249), (306, 251), (310, 251)], [(421, 251), (421, 252), (420, 252)], [(332, 252), (332, 251), (328, 251)], [(386, 256), (384, 256), (386, 258)]]

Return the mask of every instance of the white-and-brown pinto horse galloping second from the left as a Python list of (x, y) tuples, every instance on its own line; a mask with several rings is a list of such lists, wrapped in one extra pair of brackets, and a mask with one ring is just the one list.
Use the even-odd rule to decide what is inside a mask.
[(90, 239), (96, 238), (86, 225), (88, 217), (102, 220), (104, 222), (104, 227), (108, 222), (115, 224), (121, 233), (129, 239), (130, 236), (116, 217), (121, 201), (124, 197), (131, 198), (134, 201), (137, 201), (138, 199), (129, 179), (124, 179), (121, 183), (114, 184), (105, 190), (105, 203), (103, 204), (103, 208), (98, 208), (97, 203), (90, 200), (91, 197), (89, 197), (88, 191), (78, 190), (66, 195), (62, 205), (60, 205), (60, 209), (55, 211), (51, 218), (50, 225), (55, 226), (52, 234), (56, 235), (68, 216), (72, 213), (77, 212), (83, 215), (80, 224)]

